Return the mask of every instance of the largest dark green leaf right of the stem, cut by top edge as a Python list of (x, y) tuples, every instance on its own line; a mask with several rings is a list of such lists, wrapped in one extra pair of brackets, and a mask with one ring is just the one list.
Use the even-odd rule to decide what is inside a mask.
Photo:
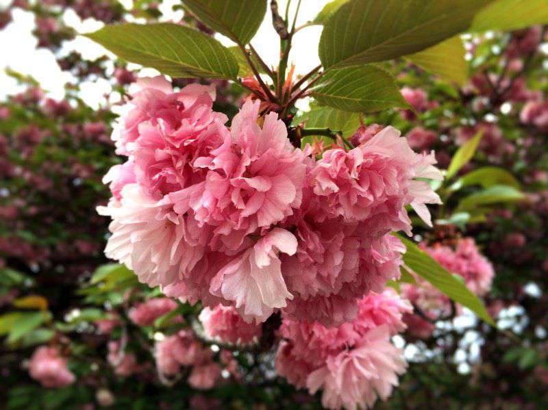
[(489, 0), (350, 0), (327, 20), (319, 55), (325, 68), (416, 53), (466, 30)]

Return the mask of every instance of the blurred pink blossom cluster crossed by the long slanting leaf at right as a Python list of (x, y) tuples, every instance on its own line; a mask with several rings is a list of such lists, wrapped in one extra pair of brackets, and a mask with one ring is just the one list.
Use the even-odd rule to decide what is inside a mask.
[[(421, 248), (451, 274), (464, 279), (466, 287), (477, 296), (483, 296), (491, 287), (495, 271), (490, 261), (482, 255), (473, 238), (462, 238), (453, 246), (436, 243), (432, 246), (420, 244)], [(435, 321), (451, 313), (451, 300), (425, 280), (416, 277), (417, 284), (405, 283), (401, 294), (421, 309), (430, 320)], [(415, 337), (427, 338), (434, 331), (434, 324), (418, 314), (406, 314), (408, 333)]]

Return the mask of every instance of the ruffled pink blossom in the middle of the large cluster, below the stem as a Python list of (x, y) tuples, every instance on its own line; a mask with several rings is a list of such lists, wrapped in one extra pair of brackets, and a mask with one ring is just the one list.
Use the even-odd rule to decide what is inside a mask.
[(192, 209), (196, 220), (216, 227), (214, 233), (232, 249), (245, 235), (282, 221), (301, 204), (305, 155), (292, 147), (277, 114), (266, 115), (260, 127), (258, 110), (258, 101), (245, 103), (225, 144), (195, 162), (210, 170), (202, 185), (170, 195), (175, 212)]

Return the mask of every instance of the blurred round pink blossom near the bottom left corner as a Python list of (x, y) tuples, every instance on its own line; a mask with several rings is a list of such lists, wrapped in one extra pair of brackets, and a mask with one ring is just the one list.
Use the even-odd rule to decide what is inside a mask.
[(29, 373), (44, 387), (65, 387), (76, 380), (73, 372), (66, 366), (66, 358), (55, 347), (40, 346), (34, 350)]

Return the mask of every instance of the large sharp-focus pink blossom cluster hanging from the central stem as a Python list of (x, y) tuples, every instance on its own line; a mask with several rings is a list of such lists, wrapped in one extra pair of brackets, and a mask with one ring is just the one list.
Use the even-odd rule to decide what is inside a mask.
[(226, 127), (212, 87), (174, 92), (141, 79), (118, 133), (127, 162), (105, 176), (113, 197), (105, 253), (166, 296), (234, 306), (248, 322), (275, 309), (339, 324), (356, 300), (399, 275), (406, 205), (430, 223), (434, 154), (386, 127), (321, 159), (295, 149), (277, 114), (247, 101)]

